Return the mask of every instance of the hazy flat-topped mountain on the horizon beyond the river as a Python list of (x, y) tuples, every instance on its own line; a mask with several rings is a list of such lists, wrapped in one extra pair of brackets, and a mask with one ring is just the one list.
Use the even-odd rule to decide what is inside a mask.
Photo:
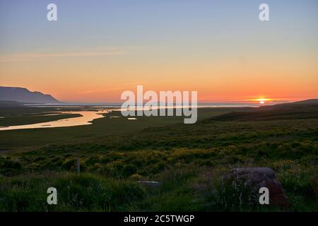
[(46, 104), (59, 103), (51, 95), (31, 92), (26, 88), (0, 86), (0, 101), (16, 101), (21, 103)]

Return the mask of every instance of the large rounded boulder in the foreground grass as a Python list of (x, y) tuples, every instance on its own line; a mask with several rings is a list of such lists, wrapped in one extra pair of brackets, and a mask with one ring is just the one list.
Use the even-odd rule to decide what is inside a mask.
[[(269, 201), (273, 206), (287, 207), (288, 201), (283, 186), (276, 179), (276, 174), (269, 167), (232, 169), (223, 175), (223, 180), (231, 182), (238, 198), (245, 198), (249, 204), (259, 204), (259, 189), (269, 189)], [(246, 203), (246, 202), (245, 202)]]

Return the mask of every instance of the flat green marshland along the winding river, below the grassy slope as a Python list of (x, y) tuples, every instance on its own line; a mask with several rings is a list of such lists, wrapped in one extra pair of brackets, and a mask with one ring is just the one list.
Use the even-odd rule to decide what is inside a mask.
[[(39, 107), (36, 107), (36, 109), (37, 113), (48, 110), (46, 108), (40, 109)], [(27, 112), (35, 113), (36, 109), (27, 109)], [(52, 110), (54, 109), (50, 109), (50, 111)], [(230, 109), (199, 109), (199, 119), (223, 114), (225, 112), (229, 112), (229, 110)], [(2, 109), (2, 112), (6, 112), (6, 115), (15, 115), (14, 109), (8, 109), (7, 111)], [(19, 109), (17, 112), (18, 113), (16, 114), (20, 114), (23, 112), (23, 109)], [(112, 112), (110, 114), (105, 114), (105, 116), (105, 118), (95, 119), (93, 120), (93, 124), (85, 126), (0, 131), (0, 151), (30, 150), (32, 148), (34, 149), (52, 143), (77, 143), (83, 140), (133, 133), (134, 131), (140, 131), (142, 129), (157, 126), (183, 123), (183, 117), (136, 117), (138, 120), (127, 120), (124, 117), (120, 117), (120, 112)], [(119, 118), (110, 119), (110, 117), (114, 116), (119, 116)], [(8, 124), (7, 121), (5, 123)]]

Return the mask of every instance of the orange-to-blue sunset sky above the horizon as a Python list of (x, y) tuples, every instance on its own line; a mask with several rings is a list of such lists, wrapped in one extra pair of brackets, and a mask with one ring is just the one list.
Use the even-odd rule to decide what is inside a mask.
[(0, 1), (0, 85), (64, 102), (119, 102), (136, 85), (199, 102), (317, 98), (317, 28), (316, 0)]

